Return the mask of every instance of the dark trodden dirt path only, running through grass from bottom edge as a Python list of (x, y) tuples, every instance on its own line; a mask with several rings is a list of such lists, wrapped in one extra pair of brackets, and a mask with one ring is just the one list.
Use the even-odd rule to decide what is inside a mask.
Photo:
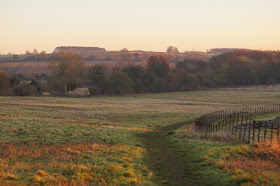
[(139, 134), (138, 137), (147, 149), (147, 164), (155, 173), (156, 184), (167, 185), (225, 185), (205, 174), (205, 167), (200, 164), (200, 157), (195, 155), (194, 146), (182, 146), (172, 142), (169, 131), (179, 129), (192, 121), (178, 123), (160, 129), (159, 133)]

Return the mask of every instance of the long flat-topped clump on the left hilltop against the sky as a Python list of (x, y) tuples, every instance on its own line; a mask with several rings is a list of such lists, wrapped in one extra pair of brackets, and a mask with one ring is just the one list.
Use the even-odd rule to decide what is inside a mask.
[(61, 47), (56, 47), (54, 53), (61, 52), (61, 51), (75, 52), (80, 54), (107, 52), (105, 48), (99, 48), (99, 47), (61, 46)]

